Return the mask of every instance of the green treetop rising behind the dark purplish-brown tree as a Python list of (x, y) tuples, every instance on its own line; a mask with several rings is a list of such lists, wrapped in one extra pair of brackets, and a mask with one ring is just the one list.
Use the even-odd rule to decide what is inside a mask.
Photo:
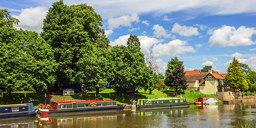
[(178, 64), (180, 64), (181, 67), (184, 68), (183, 62), (182, 62), (182, 61), (179, 61), (178, 58), (177, 58), (177, 56), (175, 56), (175, 58), (172, 58), (171, 61), (168, 62), (165, 75), (167, 76), (167, 75), (169, 75), (170, 73), (172, 73), (173, 70), (175, 70), (175, 68), (177, 67)]

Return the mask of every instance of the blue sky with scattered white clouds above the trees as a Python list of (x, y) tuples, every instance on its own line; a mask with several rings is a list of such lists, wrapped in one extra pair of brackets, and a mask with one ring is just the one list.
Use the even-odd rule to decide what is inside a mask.
[[(41, 32), (55, 0), (0, 0), (20, 20), (17, 29)], [(233, 57), (256, 71), (256, 0), (63, 0), (86, 3), (103, 19), (111, 46), (137, 35), (145, 57), (152, 49), (159, 72), (172, 58), (185, 70), (211, 65), (227, 73)]]

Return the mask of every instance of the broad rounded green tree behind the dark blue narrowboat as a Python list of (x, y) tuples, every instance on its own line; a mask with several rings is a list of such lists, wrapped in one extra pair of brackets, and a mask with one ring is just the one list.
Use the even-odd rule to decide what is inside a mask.
[(0, 83), (11, 91), (47, 91), (55, 82), (51, 47), (32, 31), (0, 28)]

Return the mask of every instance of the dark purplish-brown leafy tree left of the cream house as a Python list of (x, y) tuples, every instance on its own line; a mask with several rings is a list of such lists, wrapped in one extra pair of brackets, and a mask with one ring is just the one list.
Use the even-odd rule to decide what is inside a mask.
[(186, 87), (188, 86), (185, 78), (184, 68), (181, 64), (177, 64), (177, 67), (175, 67), (172, 73), (169, 73), (166, 78), (166, 86), (175, 88), (176, 92), (178, 91), (178, 89), (183, 89), (184, 92), (184, 90), (186, 90)]

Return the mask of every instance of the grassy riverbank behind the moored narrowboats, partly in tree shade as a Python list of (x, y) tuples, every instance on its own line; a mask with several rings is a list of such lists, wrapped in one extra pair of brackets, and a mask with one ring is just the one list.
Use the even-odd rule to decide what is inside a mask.
[[(168, 92), (174, 92), (174, 90), (153, 90), (152, 95), (149, 94), (149, 90), (145, 92), (144, 89), (138, 90), (138, 93), (124, 93), (124, 96), (120, 95), (113, 89), (105, 89), (102, 88), (99, 90), (99, 94), (95, 97), (95, 92), (89, 92), (86, 95), (84, 94), (82, 97), (80, 93), (75, 94), (74, 96), (53, 96), (53, 98), (56, 101), (67, 101), (67, 100), (89, 100), (89, 99), (100, 99), (100, 100), (116, 100), (117, 104), (125, 103), (127, 105), (131, 104), (132, 97), (136, 99), (152, 99), (152, 98), (164, 98), (167, 97)], [(3, 105), (9, 105), (9, 104), (20, 104), (21, 102), (25, 102), (25, 94), (26, 93), (26, 103), (33, 103), (35, 108), (38, 108), (38, 104), (45, 104), (45, 97), (43, 95), (39, 95), (38, 93), (29, 93), (29, 92), (20, 92), (20, 93), (14, 93), (12, 92), (11, 96), (7, 96), (7, 93), (3, 93)], [(216, 97), (216, 95), (208, 95), (203, 94), (195, 91), (178, 91), (177, 97), (180, 97), (180, 95), (183, 98), (186, 98), (187, 101), (193, 102), (194, 101), (194, 93), (195, 93), (195, 99), (198, 97)], [(0, 93), (1, 94), (1, 93)], [(122, 98), (123, 97), (123, 98)], [(176, 97), (176, 94), (169, 93), (169, 97)], [(219, 101), (220, 103), (220, 101)], [(47, 104), (49, 105), (49, 101), (47, 101)]]

